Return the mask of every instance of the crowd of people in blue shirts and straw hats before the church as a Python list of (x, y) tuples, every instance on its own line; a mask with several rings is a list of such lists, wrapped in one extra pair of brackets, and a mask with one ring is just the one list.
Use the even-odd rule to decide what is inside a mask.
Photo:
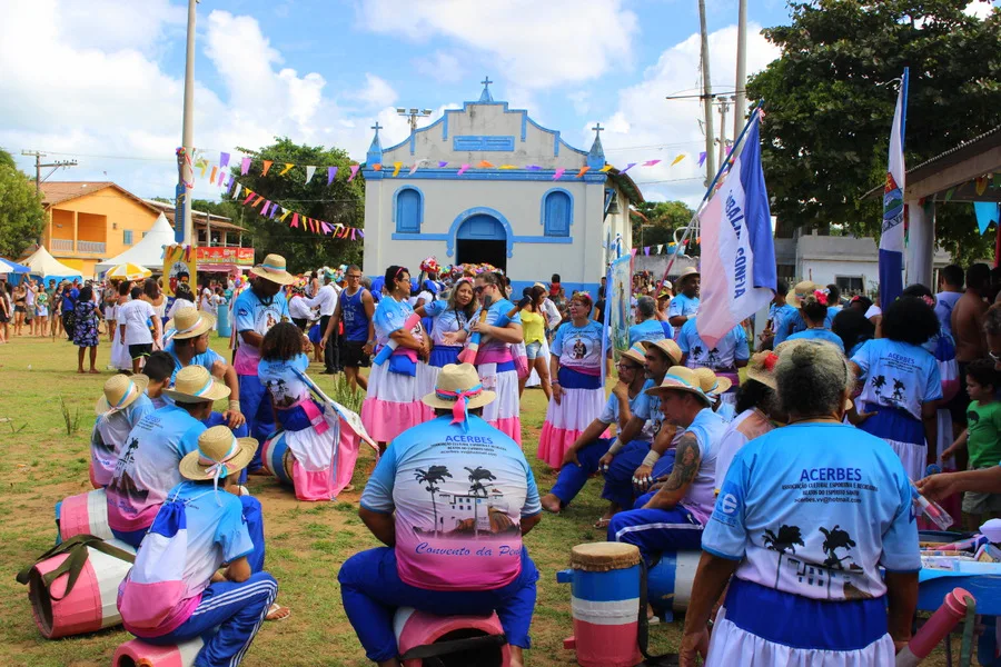
[[(685, 269), (636, 295), (621, 354), (608, 350), (604, 299), (565, 293), (558, 276), (517, 297), (492, 267), (434, 258), (418, 276), (318, 273), (293, 276), (268, 255), (235, 286), (231, 364), (208, 346), (215, 290), (199, 309), (179, 286), (169, 315), (155, 280), (110, 299), (112, 341), (132, 364), (105, 386), (91, 479), (145, 565), (119, 608), (152, 643), (218, 627), (198, 665), (239, 663), (265, 619), (289, 615), (244, 485), (265, 465), (261, 446), (285, 439), (300, 499), (336, 498), (350, 481), (334, 462), (338, 416), (308, 378), (311, 340), (325, 372), (365, 391), (360, 422), (383, 452), (359, 515), (385, 546), (348, 558), (338, 579), (366, 655), (384, 666), (399, 665), (402, 606), (496, 611), (512, 664), (524, 664), (539, 575), (522, 536), (596, 475), (608, 505), (595, 527), (608, 541), (635, 545), (648, 566), (702, 551), (684, 665), (697, 653), (707, 665), (809, 664), (817, 651), (825, 665), (889, 664), (916, 604), (918, 490), (947, 507), (963, 492), (957, 518), (970, 528), (1001, 511), (1001, 306), (984, 298), (984, 265), (949, 267), (936, 293), (910, 286), (882, 309), (843, 303), (834, 286), (780, 283), (754, 350), (743, 325), (700, 335), (701, 276)], [(96, 327), (81, 327), (92, 292), (69, 290), (70, 332), (93, 342), (81, 368), (97, 345)], [(616, 379), (607, 397), (603, 371)], [(533, 376), (547, 400), (535, 456), (557, 474), (547, 492), (522, 441)], [(221, 399), (228, 409), (214, 411)], [(929, 465), (969, 470), (926, 476)], [(163, 557), (178, 512), (194, 564), (182, 573)], [(831, 584), (804, 583), (803, 567)], [(163, 581), (179, 583), (175, 595), (142, 605)], [(777, 616), (789, 623), (767, 621)]]

